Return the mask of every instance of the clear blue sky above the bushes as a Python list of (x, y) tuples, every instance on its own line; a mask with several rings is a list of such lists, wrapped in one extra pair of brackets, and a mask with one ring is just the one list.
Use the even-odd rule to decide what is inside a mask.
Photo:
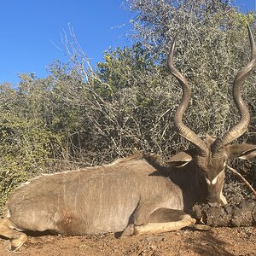
[[(236, 0), (241, 9), (254, 10), (256, 0)], [(47, 76), (56, 59), (66, 61), (61, 32), (74, 28), (79, 44), (92, 64), (102, 61), (108, 47), (129, 44), (128, 9), (121, 0), (0, 0), (0, 83), (19, 81), (19, 73)]]

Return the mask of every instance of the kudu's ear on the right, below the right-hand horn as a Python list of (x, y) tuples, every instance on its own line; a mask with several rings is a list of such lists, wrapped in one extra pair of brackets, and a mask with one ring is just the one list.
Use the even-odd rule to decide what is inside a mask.
[(230, 157), (250, 160), (256, 157), (256, 145), (253, 144), (234, 144), (229, 146)]

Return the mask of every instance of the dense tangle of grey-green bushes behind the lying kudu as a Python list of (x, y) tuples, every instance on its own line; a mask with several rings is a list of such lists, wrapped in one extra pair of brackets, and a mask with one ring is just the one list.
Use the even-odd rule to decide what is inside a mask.
[[(41, 172), (100, 165), (134, 148), (163, 159), (188, 148), (172, 125), (181, 89), (166, 69), (176, 33), (175, 63), (192, 88), (185, 123), (200, 136), (221, 136), (240, 118), (231, 83), (249, 59), (246, 23), (254, 29), (254, 15), (217, 0), (126, 4), (136, 13), (132, 47), (108, 49), (94, 70), (72, 35), (64, 44), (70, 61), (55, 61), (48, 77), (1, 84), (0, 207)], [(243, 85), (252, 120), (241, 142), (255, 137), (255, 72)], [(255, 162), (233, 164), (255, 185)], [(228, 182), (228, 193), (237, 191), (234, 177)]]

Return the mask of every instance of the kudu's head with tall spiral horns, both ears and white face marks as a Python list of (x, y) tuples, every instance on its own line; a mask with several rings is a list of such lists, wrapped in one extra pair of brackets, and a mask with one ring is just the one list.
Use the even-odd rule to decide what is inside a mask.
[(192, 150), (174, 155), (168, 162), (170, 166), (181, 167), (187, 165), (191, 160), (195, 161), (195, 165), (206, 179), (207, 201), (210, 205), (224, 205), (227, 203), (224, 195), (222, 195), (224, 169), (227, 160), (234, 157), (249, 159), (256, 155), (256, 145), (247, 143), (231, 144), (247, 130), (250, 121), (249, 111), (241, 98), (240, 92), (241, 84), (247, 74), (256, 66), (256, 45), (249, 26), (247, 28), (251, 44), (251, 60), (238, 71), (233, 83), (233, 98), (241, 119), (238, 124), (231, 128), (230, 131), (227, 131), (221, 138), (213, 139), (212, 137), (207, 137), (205, 140), (202, 140), (187, 125), (183, 124), (183, 113), (188, 107), (190, 100), (190, 88), (187, 79), (183, 77), (173, 64), (173, 53), (177, 36), (168, 55), (168, 67), (183, 88), (182, 101), (174, 114), (174, 125), (177, 128), (177, 132), (195, 146)]

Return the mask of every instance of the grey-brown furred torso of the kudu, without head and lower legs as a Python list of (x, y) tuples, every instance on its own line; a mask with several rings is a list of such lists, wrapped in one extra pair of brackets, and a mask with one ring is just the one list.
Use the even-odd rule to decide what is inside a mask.
[[(191, 179), (195, 173), (187, 174), (189, 187), (198, 189)], [(137, 156), (110, 166), (34, 178), (15, 189), (7, 204), (20, 230), (67, 235), (119, 232), (131, 218), (134, 224), (147, 223), (159, 208), (183, 210), (183, 191)]]

